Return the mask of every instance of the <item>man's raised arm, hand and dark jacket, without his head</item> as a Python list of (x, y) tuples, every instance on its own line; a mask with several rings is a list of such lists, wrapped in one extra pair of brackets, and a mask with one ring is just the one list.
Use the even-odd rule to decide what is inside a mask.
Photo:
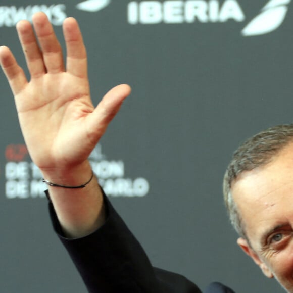
[[(45, 14), (35, 14), (33, 25), (36, 37), (28, 21), (17, 25), (31, 80), (27, 81), (9, 48), (0, 47), (0, 62), (15, 97), (30, 156), (48, 184), (54, 228), (88, 290), (200, 292), (183, 276), (152, 267), (91, 171), (87, 158), (130, 87), (112, 88), (93, 107), (85, 47), (75, 19), (68, 18), (63, 25), (66, 68)], [(232, 290), (213, 283), (207, 292)]]

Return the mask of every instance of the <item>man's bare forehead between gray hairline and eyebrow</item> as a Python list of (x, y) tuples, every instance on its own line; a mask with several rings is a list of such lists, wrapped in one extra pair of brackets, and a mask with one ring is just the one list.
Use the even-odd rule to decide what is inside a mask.
[(231, 194), (250, 235), (293, 223), (293, 144), (270, 163), (242, 172), (232, 184)]

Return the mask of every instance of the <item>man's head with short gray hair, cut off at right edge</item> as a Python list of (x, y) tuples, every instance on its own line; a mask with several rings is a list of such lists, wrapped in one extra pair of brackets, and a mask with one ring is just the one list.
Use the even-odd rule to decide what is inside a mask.
[(253, 136), (235, 151), (224, 198), (238, 244), (293, 292), (293, 124)]

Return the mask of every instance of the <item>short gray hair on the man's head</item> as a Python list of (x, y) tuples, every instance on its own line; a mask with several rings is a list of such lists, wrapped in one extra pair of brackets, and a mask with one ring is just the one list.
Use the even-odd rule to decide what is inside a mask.
[(268, 164), (291, 141), (293, 141), (293, 124), (277, 125), (247, 139), (233, 153), (224, 175), (224, 201), (232, 226), (240, 237), (248, 241), (245, 223), (231, 194), (231, 185), (241, 172)]

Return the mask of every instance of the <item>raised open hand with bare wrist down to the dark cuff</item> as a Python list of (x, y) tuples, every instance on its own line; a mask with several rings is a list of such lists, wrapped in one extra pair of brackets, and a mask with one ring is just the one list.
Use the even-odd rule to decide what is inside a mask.
[[(28, 21), (17, 24), (30, 81), (8, 47), (0, 47), (0, 63), (15, 96), (32, 160), (45, 179), (58, 185), (79, 186), (90, 178), (87, 158), (130, 93), (130, 87), (112, 88), (94, 108), (89, 95), (86, 51), (76, 20), (67, 18), (63, 24), (66, 68), (60, 44), (45, 14), (35, 14), (33, 26), (36, 37)], [(66, 235), (83, 236), (105, 221), (103, 196), (95, 178), (86, 188), (48, 188)]]

